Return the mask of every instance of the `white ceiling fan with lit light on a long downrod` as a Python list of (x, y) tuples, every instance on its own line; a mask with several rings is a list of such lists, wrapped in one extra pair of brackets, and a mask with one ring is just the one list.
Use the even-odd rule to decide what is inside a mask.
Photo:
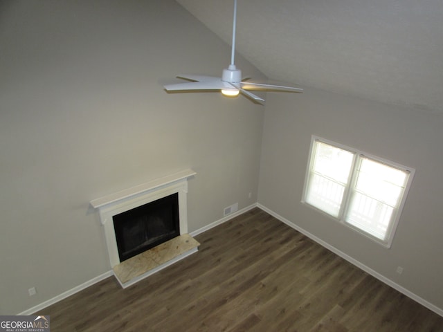
[[(301, 93), (303, 89), (293, 86), (280, 86), (264, 83), (253, 83), (242, 80), (242, 71), (234, 64), (235, 58), (235, 26), (237, 21), (237, 0), (234, 0), (233, 19), (233, 44), (230, 55), (230, 65), (223, 70), (221, 77), (206, 75), (179, 75), (178, 78), (192, 82), (167, 84), (166, 91), (201, 91), (201, 90), (221, 90), (221, 93), (228, 96), (236, 96), (239, 93), (246, 95), (255, 102), (264, 102), (263, 98), (254, 95), (249, 91), (288, 91)], [(248, 91), (249, 90), (249, 91)]]

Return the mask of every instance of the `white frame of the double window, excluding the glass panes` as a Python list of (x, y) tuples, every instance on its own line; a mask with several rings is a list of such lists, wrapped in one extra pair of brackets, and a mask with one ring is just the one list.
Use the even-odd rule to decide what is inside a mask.
[[(317, 208), (316, 206), (309, 204), (306, 201), (306, 197), (307, 197), (307, 193), (308, 193), (308, 186), (309, 186), (309, 176), (310, 176), (311, 168), (313, 167), (313, 164), (314, 164), (314, 156), (315, 156), (314, 155), (314, 145), (316, 142), (323, 142), (327, 145), (331, 145), (332, 147), (336, 147), (338, 149), (343, 149), (345, 151), (348, 151), (354, 155), (354, 158), (352, 159), (352, 166), (350, 169), (349, 178), (347, 180), (347, 185), (345, 186), (343, 199), (341, 201), (341, 208), (340, 208), (340, 211), (338, 212), (338, 216), (332, 216), (332, 214), (329, 214), (329, 213), (321, 210), (320, 208)], [(384, 240), (374, 237), (372, 234), (365, 232), (365, 230), (362, 230), (361, 228), (358, 228), (355, 225), (352, 225), (352, 224), (348, 223), (347, 221), (345, 221), (346, 212), (347, 212), (347, 209), (350, 208), (350, 199), (352, 196), (354, 185), (356, 183), (357, 165), (359, 164), (359, 160), (361, 160), (362, 158), (368, 158), (370, 160), (374, 160), (377, 163), (388, 165), (389, 167), (399, 169), (403, 172), (406, 172), (406, 174), (408, 174), (408, 178), (406, 180), (406, 185), (404, 187), (403, 194), (401, 195), (401, 197), (399, 199), (399, 204), (397, 205), (397, 209), (395, 209), (395, 211), (394, 211), (394, 215), (392, 216), (390, 225), (388, 226), (388, 230), (386, 231), (386, 234), (387, 234), (386, 239), (384, 239)], [(392, 162), (390, 160), (386, 160), (384, 158), (380, 158), (378, 156), (374, 156), (372, 154), (368, 154), (366, 152), (360, 151), (359, 149), (347, 147), (347, 146), (339, 144), (337, 142), (333, 142), (332, 140), (327, 140), (325, 138), (320, 138), (319, 136), (313, 135), (313, 136), (311, 136), (309, 158), (308, 158), (307, 169), (306, 169), (306, 174), (305, 174), (305, 185), (303, 187), (301, 202), (306, 204), (307, 206), (309, 206), (309, 208), (313, 208), (314, 210), (319, 211), (322, 214), (325, 214), (326, 216), (329, 216), (329, 218), (332, 218), (335, 221), (338, 221), (342, 225), (345, 225), (345, 227), (351, 228), (352, 230), (358, 232), (359, 234), (363, 234), (365, 237), (368, 237), (369, 239), (381, 244), (382, 246), (385, 246), (386, 248), (390, 248), (392, 246), (392, 241), (394, 239), (395, 231), (397, 230), (397, 225), (399, 223), (401, 212), (403, 211), (406, 197), (408, 196), (408, 192), (410, 189), (410, 185), (413, 181), (414, 174), (415, 174), (415, 169), (413, 169), (411, 167), (406, 167), (404, 165), (400, 165), (400, 164)]]

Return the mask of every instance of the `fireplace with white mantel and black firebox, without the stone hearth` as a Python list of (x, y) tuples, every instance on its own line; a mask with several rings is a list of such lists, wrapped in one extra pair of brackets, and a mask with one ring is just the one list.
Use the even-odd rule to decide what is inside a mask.
[[(186, 169), (91, 201), (105, 230), (111, 268), (163, 241), (188, 233), (186, 194), (188, 179), (195, 174)], [(149, 212), (151, 208), (158, 211)], [(133, 233), (140, 234), (130, 240)]]

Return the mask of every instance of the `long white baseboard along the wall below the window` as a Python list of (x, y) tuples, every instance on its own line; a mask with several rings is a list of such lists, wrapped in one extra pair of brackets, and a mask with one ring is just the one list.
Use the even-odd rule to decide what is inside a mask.
[(323, 247), (327, 248), (328, 250), (331, 250), (332, 252), (334, 252), (334, 254), (336, 254), (336, 255), (340, 256), (341, 258), (349, 261), (354, 266), (360, 268), (361, 270), (365, 271), (369, 275), (372, 275), (372, 277), (375, 277), (375, 278), (379, 279), (384, 284), (387, 284), (388, 286), (394, 288), (395, 290), (397, 290), (400, 293), (406, 295), (407, 297), (410, 297), (415, 302), (418, 302), (419, 304), (422, 304), (422, 306), (425, 306), (426, 308), (428, 308), (429, 310), (433, 311), (434, 313), (437, 313), (437, 315), (440, 315), (440, 316), (443, 317), (443, 309), (442, 308), (438, 308), (434, 304), (426, 301), (426, 299), (423, 299), (422, 297), (419, 297), (415, 293), (412, 293), (412, 292), (408, 291), (406, 288), (404, 288), (404, 287), (400, 286), (399, 284), (393, 282), (391, 279), (388, 279), (387, 277), (384, 277), (383, 275), (381, 275), (377, 271), (372, 270), (372, 268), (369, 268), (368, 266), (365, 266), (360, 261), (357, 261), (356, 259), (354, 259), (354, 258), (350, 257), (349, 255), (345, 254), (345, 252), (342, 252), (341, 250), (338, 250), (334, 246), (331, 246), (329, 243), (326, 243), (322, 239), (319, 239), (314, 234), (311, 234), (311, 233), (307, 232), (306, 230), (304, 230), (303, 228), (298, 227), (294, 223), (291, 223), (291, 221), (285, 219), (283, 216), (280, 216), (280, 214), (277, 214), (277, 213), (273, 212), (272, 210), (269, 210), (268, 208), (266, 208), (265, 206), (261, 205), (260, 203), (257, 203), (257, 208), (260, 208), (263, 211), (271, 214), (271, 216), (275, 217), (275, 219), (278, 219), (282, 223), (285, 223), (286, 225), (288, 225), (289, 227), (293, 228), (294, 230), (297, 230), (298, 232), (302, 233), (306, 237), (309, 237), (309, 239), (311, 239), (313, 241), (316, 241), (316, 243), (320, 244), (320, 246), (323, 246)]

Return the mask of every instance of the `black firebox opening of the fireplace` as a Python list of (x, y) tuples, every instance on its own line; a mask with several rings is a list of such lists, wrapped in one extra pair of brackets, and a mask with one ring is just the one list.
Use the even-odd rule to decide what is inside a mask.
[(179, 194), (175, 193), (112, 217), (118, 255), (125, 261), (178, 237)]

